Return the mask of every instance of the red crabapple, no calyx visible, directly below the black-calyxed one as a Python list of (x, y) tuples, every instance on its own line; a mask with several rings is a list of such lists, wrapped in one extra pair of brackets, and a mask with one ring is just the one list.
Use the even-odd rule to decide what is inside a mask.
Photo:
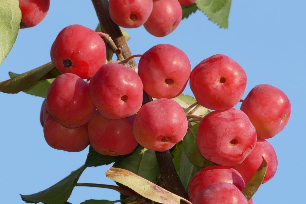
[(50, 85), (46, 107), (56, 121), (66, 128), (77, 128), (92, 118), (95, 106), (89, 84), (75, 74), (62, 74)]

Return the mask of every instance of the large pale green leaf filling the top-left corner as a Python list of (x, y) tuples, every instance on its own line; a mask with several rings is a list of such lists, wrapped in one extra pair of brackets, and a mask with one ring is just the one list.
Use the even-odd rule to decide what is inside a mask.
[(11, 51), (20, 27), (18, 0), (0, 1), (0, 65)]

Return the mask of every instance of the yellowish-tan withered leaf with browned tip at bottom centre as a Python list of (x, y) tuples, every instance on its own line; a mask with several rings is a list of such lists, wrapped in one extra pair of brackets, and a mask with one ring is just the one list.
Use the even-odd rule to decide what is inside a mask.
[(133, 189), (152, 201), (180, 204), (180, 200), (183, 200), (190, 204), (185, 198), (175, 195), (128, 170), (110, 167), (105, 174), (111, 180)]

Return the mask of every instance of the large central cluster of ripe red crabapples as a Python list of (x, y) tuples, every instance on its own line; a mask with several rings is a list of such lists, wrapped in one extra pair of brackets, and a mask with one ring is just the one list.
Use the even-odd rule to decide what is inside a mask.
[[(169, 150), (188, 130), (183, 108), (171, 98), (180, 95), (190, 80), (196, 101), (213, 110), (200, 121), (197, 147), (203, 158), (216, 164), (193, 176), (190, 201), (248, 203), (241, 190), (262, 157), (268, 164), (263, 183), (274, 176), (277, 158), (266, 139), (287, 124), (289, 99), (278, 88), (260, 84), (249, 92), (240, 110), (233, 108), (244, 94), (247, 79), (230, 57), (213, 55), (191, 71), (182, 50), (159, 44), (140, 57), (136, 73), (119, 63), (105, 64), (103, 39), (81, 25), (64, 28), (50, 55), (62, 73), (50, 85), (41, 108), (40, 121), (51, 147), (77, 152), (91, 144), (98, 153), (112, 156), (129, 154), (138, 144)], [(156, 99), (143, 105), (143, 91)]]

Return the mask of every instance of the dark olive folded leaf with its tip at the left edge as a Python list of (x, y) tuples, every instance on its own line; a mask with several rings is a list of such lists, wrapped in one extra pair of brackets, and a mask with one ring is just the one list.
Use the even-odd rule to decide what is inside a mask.
[(52, 62), (32, 69), (28, 72), (13, 77), (12, 79), (0, 82), (0, 91), (4, 93), (16, 94), (32, 87), (43, 76), (54, 69)]

